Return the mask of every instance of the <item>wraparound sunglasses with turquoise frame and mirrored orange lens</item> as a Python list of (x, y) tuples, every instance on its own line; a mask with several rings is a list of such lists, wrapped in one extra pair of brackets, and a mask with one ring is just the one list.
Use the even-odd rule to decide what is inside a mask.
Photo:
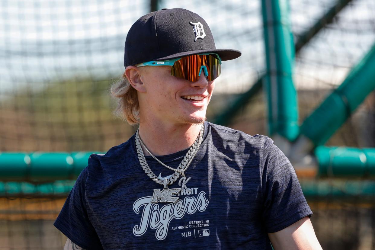
[(207, 76), (208, 81), (216, 79), (221, 72), (220, 64), (221, 58), (218, 54), (205, 53), (187, 55), (186, 57), (166, 61), (148, 61), (136, 64), (135, 66), (172, 66), (172, 76), (196, 82), (202, 71), (204, 72), (204, 75)]

